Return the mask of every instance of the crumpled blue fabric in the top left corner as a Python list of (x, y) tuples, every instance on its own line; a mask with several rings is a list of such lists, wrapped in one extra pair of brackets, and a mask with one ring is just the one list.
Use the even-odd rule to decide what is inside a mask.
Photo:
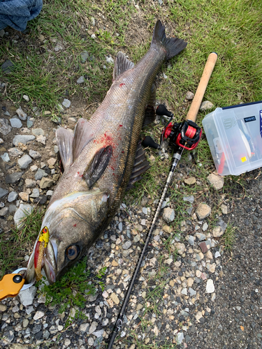
[(42, 0), (0, 0), (0, 30), (7, 26), (24, 31), (27, 22), (39, 15)]

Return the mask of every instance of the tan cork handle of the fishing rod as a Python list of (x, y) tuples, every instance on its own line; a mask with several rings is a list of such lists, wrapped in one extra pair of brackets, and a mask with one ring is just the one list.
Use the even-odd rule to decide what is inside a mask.
[(210, 80), (210, 76), (214, 69), (214, 65), (217, 61), (217, 53), (212, 52), (208, 56), (208, 61), (205, 64), (205, 68), (201, 77), (201, 80), (198, 84), (198, 88), (196, 90), (196, 94), (189, 108), (189, 112), (187, 113), (186, 120), (196, 121), (196, 116), (198, 114), (198, 110), (200, 108), (201, 102), (203, 100), (203, 96), (205, 94), (205, 89), (208, 86), (208, 82)]

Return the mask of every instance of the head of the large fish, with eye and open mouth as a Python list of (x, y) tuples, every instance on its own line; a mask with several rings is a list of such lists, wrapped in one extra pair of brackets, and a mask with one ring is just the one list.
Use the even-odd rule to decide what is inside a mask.
[[(27, 283), (31, 283), (42, 268), (49, 283), (54, 283), (82, 257), (103, 232), (109, 210), (108, 199), (107, 192), (95, 188), (68, 195), (48, 207), (27, 265)], [(41, 239), (43, 241), (45, 230), (48, 230), (49, 238), (41, 254), (38, 253), (38, 244)]]

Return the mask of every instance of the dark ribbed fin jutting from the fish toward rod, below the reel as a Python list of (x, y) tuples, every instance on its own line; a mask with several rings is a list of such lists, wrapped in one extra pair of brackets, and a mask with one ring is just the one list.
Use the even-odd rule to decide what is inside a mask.
[(142, 179), (141, 174), (145, 173), (150, 168), (150, 163), (145, 157), (145, 151), (141, 146), (141, 141), (138, 142), (138, 149), (136, 150), (136, 158), (133, 164), (133, 171), (131, 173), (129, 184), (126, 186), (126, 190), (133, 188), (133, 184), (136, 181)]

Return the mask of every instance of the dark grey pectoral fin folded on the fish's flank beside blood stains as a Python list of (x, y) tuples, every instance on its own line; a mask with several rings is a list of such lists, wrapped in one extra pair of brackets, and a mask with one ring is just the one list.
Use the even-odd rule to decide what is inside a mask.
[(99, 178), (105, 171), (105, 168), (108, 166), (111, 156), (111, 145), (108, 145), (108, 147), (103, 147), (96, 152), (91, 164), (83, 174), (83, 177), (85, 178), (89, 189), (92, 188), (96, 181), (99, 180)]

